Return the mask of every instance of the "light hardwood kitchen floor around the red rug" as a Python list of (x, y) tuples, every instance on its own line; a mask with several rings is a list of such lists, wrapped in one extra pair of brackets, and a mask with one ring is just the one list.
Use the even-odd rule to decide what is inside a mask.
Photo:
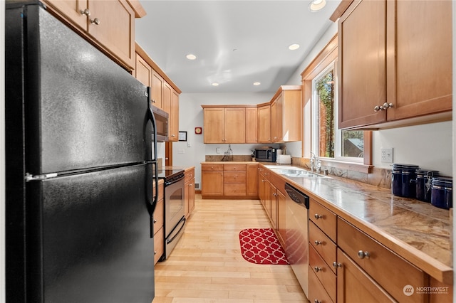
[(308, 302), (289, 265), (256, 265), (241, 255), (239, 231), (271, 227), (258, 200), (195, 200), (185, 234), (155, 265), (153, 303)]

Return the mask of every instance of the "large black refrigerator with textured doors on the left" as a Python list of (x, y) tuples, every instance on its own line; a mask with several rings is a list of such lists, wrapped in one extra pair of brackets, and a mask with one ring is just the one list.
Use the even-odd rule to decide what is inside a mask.
[(150, 87), (36, 1), (5, 34), (7, 302), (150, 303)]

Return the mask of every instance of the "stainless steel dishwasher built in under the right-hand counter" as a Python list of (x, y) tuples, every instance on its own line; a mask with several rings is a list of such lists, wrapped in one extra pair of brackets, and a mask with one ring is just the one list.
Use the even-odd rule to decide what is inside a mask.
[(309, 297), (309, 196), (285, 184), (285, 252), (294, 275)]

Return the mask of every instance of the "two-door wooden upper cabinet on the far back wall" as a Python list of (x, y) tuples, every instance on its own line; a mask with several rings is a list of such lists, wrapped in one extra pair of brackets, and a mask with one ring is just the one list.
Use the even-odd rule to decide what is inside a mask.
[(245, 143), (245, 107), (202, 105), (204, 143)]

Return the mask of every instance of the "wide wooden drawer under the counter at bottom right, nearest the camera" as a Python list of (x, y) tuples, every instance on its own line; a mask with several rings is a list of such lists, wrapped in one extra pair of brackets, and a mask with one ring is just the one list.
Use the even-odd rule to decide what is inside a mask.
[[(427, 294), (406, 296), (405, 285), (428, 285), (427, 275), (358, 228), (338, 218), (338, 246), (399, 302), (425, 302)], [(358, 255), (359, 254), (359, 255)]]

